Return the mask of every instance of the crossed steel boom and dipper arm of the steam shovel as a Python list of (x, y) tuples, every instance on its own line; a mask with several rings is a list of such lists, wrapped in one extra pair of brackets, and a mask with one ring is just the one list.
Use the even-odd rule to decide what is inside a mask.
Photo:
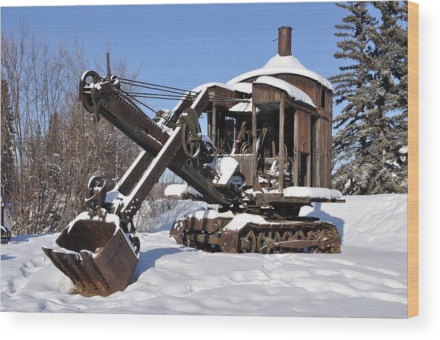
[[(93, 84), (87, 84), (85, 80), (90, 73), (94, 77)], [(129, 97), (97, 73), (85, 73), (79, 90), (83, 106), (94, 115), (96, 121), (104, 117), (145, 150), (105, 197), (107, 209), (119, 215), (123, 223), (127, 225), (132, 221), (133, 215), (167, 167), (194, 187), (207, 202), (228, 206), (233, 203), (233, 199), (213, 186), (213, 176), (200, 173), (197, 165), (189, 161), (181, 149), (181, 121), (185, 121), (190, 113), (200, 116), (209, 103), (207, 91), (200, 93), (191, 108), (183, 111), (174, 124), (173, 132), (168, 134)]]

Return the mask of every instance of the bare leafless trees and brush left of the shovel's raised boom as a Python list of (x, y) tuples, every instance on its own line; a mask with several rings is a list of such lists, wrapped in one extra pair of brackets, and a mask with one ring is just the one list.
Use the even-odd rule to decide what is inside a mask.
[[(70, 40), (54, 46), (26, 27), (1, 34), (1, 195), (15, 234), (60, 231), (85, 210), (88, 178), (99, 173), (112, 186), (139, 152), (84, 112), (77, 85), (90, 65), (83, 44)], [(112, 71), (133, 77), (122, 62)]]

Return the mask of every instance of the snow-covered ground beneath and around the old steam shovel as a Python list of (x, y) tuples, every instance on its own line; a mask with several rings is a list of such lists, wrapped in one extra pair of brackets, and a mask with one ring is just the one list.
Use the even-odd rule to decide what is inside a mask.
[[(304, 208), (337, 224), (341, 254), (193, 250), (168, 237), (168, 212), (159, 231), (139, 234), (132, 283), (107, 298), (69, 294), (70, 280), (41, 250), (56, 234), (18, 236), (1, 245), (1, 311), (406, 317), (406, 199), (354, 196)], [(181, 202), (174, 213), (200, 205)]]

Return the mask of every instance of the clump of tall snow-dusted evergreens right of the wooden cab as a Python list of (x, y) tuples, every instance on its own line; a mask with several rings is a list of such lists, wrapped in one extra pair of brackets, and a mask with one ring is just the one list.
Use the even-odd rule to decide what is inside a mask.
[(345, 105), (335, 117), (333, 186), (345, 195), (406, 192), (406, 5), (337, 5), (350, 14), (335, 25), (335, 58), (350, 64), (331, 78), (336, 104)]

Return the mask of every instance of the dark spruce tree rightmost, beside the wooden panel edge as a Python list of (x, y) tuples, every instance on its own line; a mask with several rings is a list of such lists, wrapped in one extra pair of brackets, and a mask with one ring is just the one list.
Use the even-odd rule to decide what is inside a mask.
[[(408, 189), (408, 8), (398, 1), (373, 2), (380, 12), (380, 25), (372, 34), (374, 81), (372, 99), (376, 125), (380, 125), (378, 153), (382, 156), (383, 177), (379, 187), (389, 191)], [(388, 184), (389, 186), (389, 184)]]

